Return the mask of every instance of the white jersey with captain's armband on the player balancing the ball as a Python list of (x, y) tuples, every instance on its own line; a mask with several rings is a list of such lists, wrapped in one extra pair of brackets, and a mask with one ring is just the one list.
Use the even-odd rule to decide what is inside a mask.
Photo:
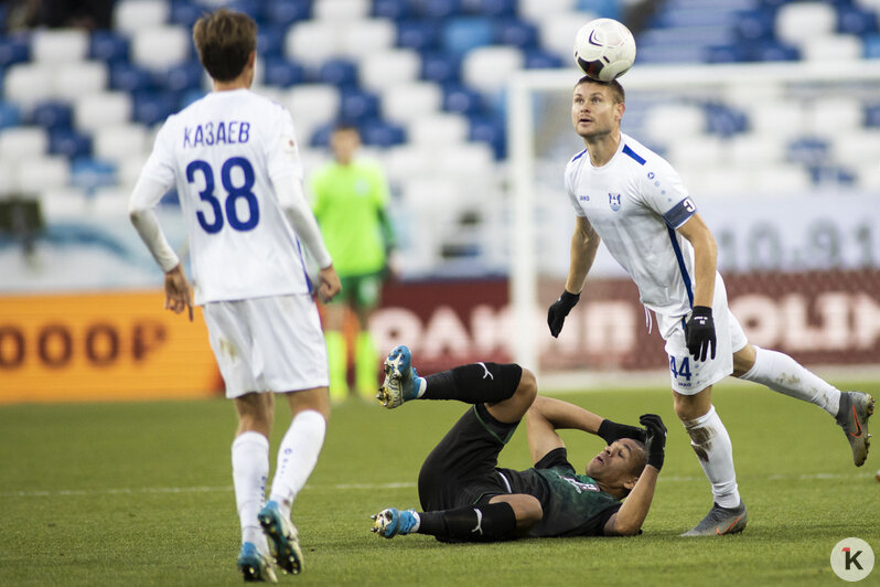
[(614, 259), (638, 286), (642, 303), (684, 316), (693, 306), (694, 248), (676, 228), (696, 213), (682, 179), (661, 156), (621, 134), (618, 151), (593, 167), (583, 150), (566, 167), (566, 192)]

